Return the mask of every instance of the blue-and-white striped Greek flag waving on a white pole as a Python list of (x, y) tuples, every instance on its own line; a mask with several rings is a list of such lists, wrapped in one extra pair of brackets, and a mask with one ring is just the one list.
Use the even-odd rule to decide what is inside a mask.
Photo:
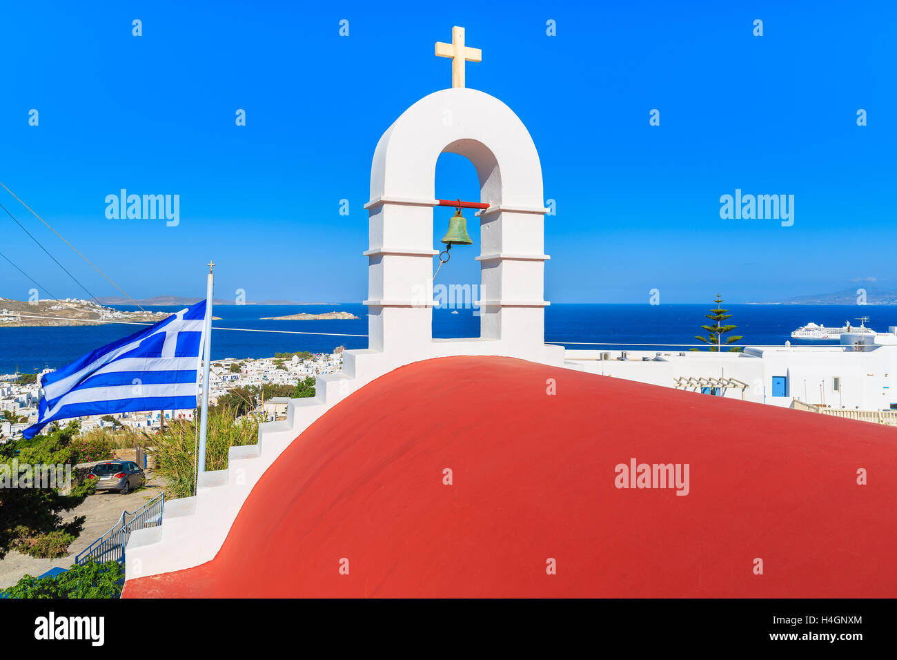
[(196, 408), (205, 300), (45, 374), (30, 439), (57, 419)]

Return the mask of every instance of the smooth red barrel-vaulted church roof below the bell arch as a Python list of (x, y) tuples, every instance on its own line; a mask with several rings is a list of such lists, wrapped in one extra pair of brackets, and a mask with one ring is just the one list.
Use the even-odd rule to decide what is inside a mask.
[[(309, 427), (212, 561), (125, 595), (893, 597), (895, 457), (867, 422), (432, 359)], [(687, 463), (688, 494), (616, 488), (631, 459)]]

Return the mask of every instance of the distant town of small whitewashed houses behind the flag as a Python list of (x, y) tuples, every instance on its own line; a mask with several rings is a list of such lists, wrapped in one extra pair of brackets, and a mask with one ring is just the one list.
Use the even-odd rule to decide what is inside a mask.
[[(210, 369), (209, 403), (215, 405), (222, 396), (238, 387), (299, 385), (309, 377), (333, 374), (342, 369), (343, 347), (335, 348), (333, 353), (295, 352), (257, 359), (228, 357), (215, 360)], [(37, 421), (39, 381), (41, 376), (51, 371), (44, 369), (38, 374), (37, 381), (33, 381), (32, 376), (30, 383), (21, 382), (22, 374), (0, 374), (0, 444), (22, 437), (22, 429)], [(264, 403), (259, 402), (250, 414), (263, 415), (268, 421), (283, 418), (288, 401), (288, 397), (274, 397)], [(77, 419), (81, 421), (82, 432), (97, 427), (131, 427), (158, 432), (167, 420), (193, 419), (195, 412), (193, 409), (146, 410)]]

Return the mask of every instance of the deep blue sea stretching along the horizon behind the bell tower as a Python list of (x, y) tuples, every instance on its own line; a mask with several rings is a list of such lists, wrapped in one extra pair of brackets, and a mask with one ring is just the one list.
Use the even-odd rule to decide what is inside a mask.
[[(738, 326), (733, 334), (743, 335), (739, 344), (781, 345), (792, 330), (809, 321), (840, 326), (844, 321), (858, 324), (858, 316), (868, 316), (867, 326), (884, 332), (897, 325), (897, 306), (867, 305), (726, 305)], [(136, 307), (116, 305), (124, 311)], [(152, 311), (178, 312), (182, 306), (152, 307)], [(553, 342), (600, 342), (606, 348), (627, 348), (622, 344), (697, 344), (697, 334), (706, 334), (701, 324), (710, 304), (552, 304), (545, 309), (545, 340)], [(299, 312), (352, 312), (358, 320), (260, 321), (263, 316), (286, 316)], [(368, 333), (367, 308), (362, 304), (340, 305), (217, 305), (213, 313), (221, 321), (212, 327), (253, 330), (298, 330), (304, 332)], [(23, 373), (55, 368), (74, 358), (137, 331), (133, 325), (109, 324), (74, 328), (0, 328), (0, 374), (16, 367)], [(438, 338), (478, 337), (480, 319), (474, 310), (433, 310), (433, 336)], [(810, 342), (794, 340), (796, 345)], [(836, 344), (837, 342), (815, 342)], [(575, 346), (570, 348), (598, 348)], [(270, 357), (277, 352), (308, 350), (330, 352), (337, 346), (367, 348), (366, 337), (289, 335), (269, 332), (216, 330), (212, 335), (212, 358)], [(640, 347), (628, 347), (638, 350)], [(654, 347), (644, 347), (645, 349)]]

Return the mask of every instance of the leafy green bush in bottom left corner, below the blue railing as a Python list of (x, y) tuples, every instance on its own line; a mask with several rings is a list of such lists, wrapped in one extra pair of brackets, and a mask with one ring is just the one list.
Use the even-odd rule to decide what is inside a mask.
[(74, 564), (55, 577), (24, 576), (2, 593), (7, 598), (118, 598), (125, 569), (118, 561)]

